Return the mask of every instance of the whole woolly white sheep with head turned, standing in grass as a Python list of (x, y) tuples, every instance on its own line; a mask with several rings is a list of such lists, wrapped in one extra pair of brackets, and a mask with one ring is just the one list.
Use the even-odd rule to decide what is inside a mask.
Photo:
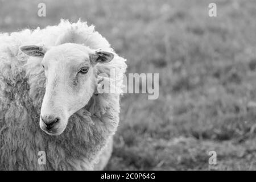
[[(0, 34), (0, 170), (101, 170), (112, 153), (125, 59), (93, 26)], [(39, 163), (39, 151), (46, 163)]]

